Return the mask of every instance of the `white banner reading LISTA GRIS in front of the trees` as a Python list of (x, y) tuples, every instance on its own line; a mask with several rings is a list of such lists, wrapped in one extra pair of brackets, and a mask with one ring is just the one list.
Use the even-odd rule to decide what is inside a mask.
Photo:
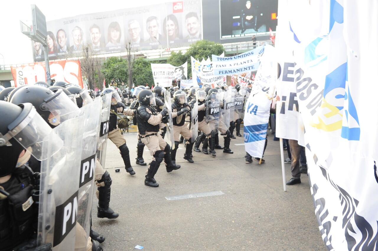
[(173, 80), (187, 79), (187, 62), (180, 66), (171, 64), (151, 64), (153, 82), (162, 87), (169, 87)]

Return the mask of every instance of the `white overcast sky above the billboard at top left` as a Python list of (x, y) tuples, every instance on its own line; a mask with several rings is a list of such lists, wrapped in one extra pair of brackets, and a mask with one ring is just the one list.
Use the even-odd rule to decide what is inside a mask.
[[(46, 21), (116, 9), (133, 8), (157, 3), (174, 2), (169, 0), (0, 0), (0, 54), (5, 65), (33, 62), (30, 39), (21, 33), (20, 20), (31, 20), (31, 4), (45, 14)], [(0, 55), (0, 65), (3, 57)]]

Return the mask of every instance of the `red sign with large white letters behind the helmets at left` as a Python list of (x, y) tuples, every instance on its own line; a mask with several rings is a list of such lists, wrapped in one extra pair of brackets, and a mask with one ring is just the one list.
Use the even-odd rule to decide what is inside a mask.
[[(65, 81), (83, 87), (79, 60), (51, 61), (49, 64), (51, 79), (55, 79), (56, 82)], [(11, 66), (11, 71), (15, 87), (34, 84), (37, 81), (46, 82), (45, 62), (35, 62), (17, 67)]]

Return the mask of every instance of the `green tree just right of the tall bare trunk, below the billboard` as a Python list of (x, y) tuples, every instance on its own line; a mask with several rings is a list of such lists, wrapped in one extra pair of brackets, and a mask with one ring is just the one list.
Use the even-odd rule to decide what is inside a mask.
[(144, 58), (137, 58), (134, 60), (133, 82), (135, 86), (145, 86), (147, 83), (150, 87), (152, 87), (153, 76), (150, 61), (147, 61)]

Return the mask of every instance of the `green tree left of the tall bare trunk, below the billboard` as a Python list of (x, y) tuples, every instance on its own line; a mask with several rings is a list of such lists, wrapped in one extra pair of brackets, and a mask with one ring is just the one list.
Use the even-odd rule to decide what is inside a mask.
[(101, 72), (104, 74), (106, 85), (109, 86), (110, 81), (114, 79), (118, 84), (123, 81), (127, 83), (127, 59), (110, 57), (106, 59), (102, 65)]

